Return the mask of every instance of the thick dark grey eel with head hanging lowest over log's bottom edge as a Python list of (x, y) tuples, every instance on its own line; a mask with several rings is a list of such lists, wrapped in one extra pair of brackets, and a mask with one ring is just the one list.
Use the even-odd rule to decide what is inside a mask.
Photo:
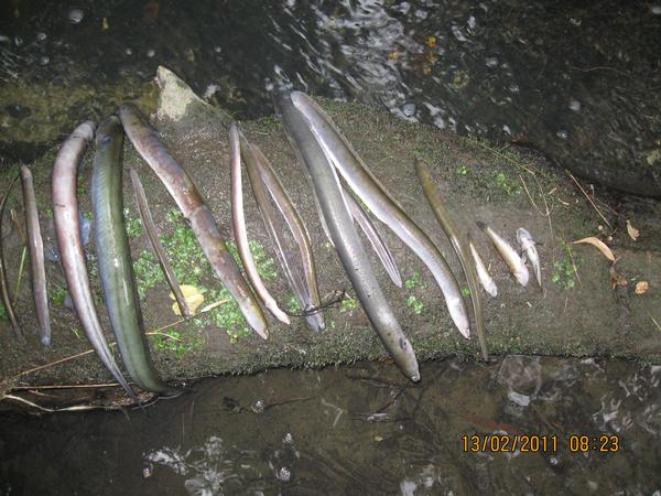
[(358, 237), (333, 165), (326, 159), (305, 117), (294, 106), (291, 94), (275, 97), (275, 108), (288, 138), (310, 173), (318, 205), (333, 242), (365, 312), (400, 370), (420, 380), (418, 359), (372, 272)]

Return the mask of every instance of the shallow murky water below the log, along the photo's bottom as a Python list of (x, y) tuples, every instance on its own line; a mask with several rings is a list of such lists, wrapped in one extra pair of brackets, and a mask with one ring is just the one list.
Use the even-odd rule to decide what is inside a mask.
[(508, 356), (431, 363), (422, 377), (412, 385), (375, 364), (271, 370), (204, 380), (149, 417), (6, 416), (0, 490), (661, 492), (659, 366)]

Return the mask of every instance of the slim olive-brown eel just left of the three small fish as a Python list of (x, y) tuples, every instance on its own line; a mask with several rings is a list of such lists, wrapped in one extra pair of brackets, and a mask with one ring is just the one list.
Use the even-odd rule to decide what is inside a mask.
[(481, 348), (483, 358), (489, 359), (489, 353), (487, 351), (487, 343), (485, 336), (485, 317), (481, 311), (481, 301), (479, 298), (479, 280), (477, 279), (477, 268), (468, 252), (468, 248), (464, 237), (459, 234), (456, 224), (454, 223), (449, 211), (445, 207), (445, 204), (438, 195), (438, 191), (434, 187), (434, 182), (430, 175), (430, 171), (424, 165), (422, 160), (415, 159), (415, 174), (422, 184), (424, 196), (427, 198), (436, 220), (441, 224), (445, 235), (448, 237), (452, 247), (457, 254), (457, 258), (462, 263), (464, 276), (466, 276), (466, 282), (470, 290), (470, 301), (473, 302), (473, 314), (475, 317), (475, 326), (477, 328), (477, 337), (479, 339), (479, 346)]

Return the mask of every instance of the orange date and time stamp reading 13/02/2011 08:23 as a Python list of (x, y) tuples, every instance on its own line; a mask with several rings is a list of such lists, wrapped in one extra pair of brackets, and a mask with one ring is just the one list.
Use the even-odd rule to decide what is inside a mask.
[(462, 435), (464, 453), (617, 453), (620, 440), (617, 435), (572, 434), (566, 440), (551, 434), (472, 434)]

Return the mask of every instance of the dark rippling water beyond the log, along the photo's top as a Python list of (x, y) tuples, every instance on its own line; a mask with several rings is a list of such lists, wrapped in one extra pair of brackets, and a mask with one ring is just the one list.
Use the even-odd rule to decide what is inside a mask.
[[(271, 114), (267, 89), (289, 84), (533, 145), (661, 196), (655, 0), (11, 0), (0, 12), (0, 83), (45, 86), (46, 100), (64, 87), (47, 101), (65, 107), (51, 119), (59, 133), (134, 96), (162, 64), (238, 116)], [(0, 103), (6, 127), (40, 115), (34, 101)]]

